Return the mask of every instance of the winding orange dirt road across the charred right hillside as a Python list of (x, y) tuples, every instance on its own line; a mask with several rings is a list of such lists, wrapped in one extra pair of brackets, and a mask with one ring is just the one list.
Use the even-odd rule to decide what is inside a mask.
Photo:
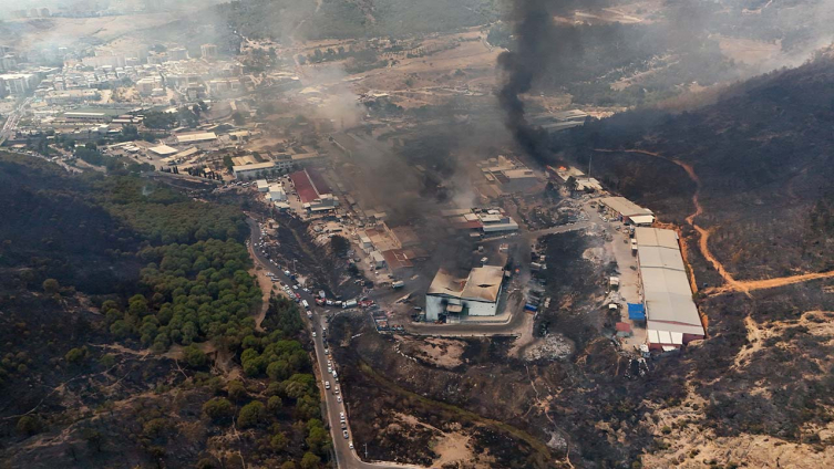
[(712, 252), (710, 251), (710, 247), (709, 247), (710, 233), (712, 230), (714, 230), (714, 227), (712, 229), (704, 229), (704, 228), (699, 227), (694, 222), (696, 217), (703, 213), (703, 207), (701, 206), (699, 201), (699, 196), (701, 192), (701, 180), (698, 178), (698, 174), (696, 174), (692, 165), (683, 163), (679, 159), (663, 156), (659, 153), (648, 152), (643, 149), (595, 148), (594, 150), (599, 152), (599, 153), (636, 153), (640, 155), (653, 156), (653, 157), (673, 163), (680, 166), (684, 171), (687, 171), (687, 175), (696, 185), (696, 191), (692, 195), (692, 205), (694, 206), (694, 211), (690, 216), (687, 217), (687, 223), (689, 223), (696, 231), (698, 231), (698, 234), (699, 234), (698, 249), (699, 251), (701, 251), (701, 256), (703, 256), (704, 259), (707, 259), (712, 264), (712, 267), (715, 269), (715, 271), (721, 275), (721, 278), (725, 282), (725, 284), (722, 286), (710, 288), (710, 289), (704, 290), (703, 292), (707, 295), (713, 296), (713, 295), (724, 294), (729, 292), (741, 292), (750, 296), (750, 292), (754, 290), (773, 289), (778, 286), (785, 286), (785, 285), (792, 285), (795, 283), (807, 282), (811, 280), (834, 278), (834, 271), (831, 271), (831, 272), (803, 273), (799, 275), (780, 277), (780, 278), (763, 279), (763, 280), (745, 280), (745, 281), (735, 280), (732, 277), (732, 274), (730, 274), (730, 272), (728, 272), (727, 269), (724, 269), (724, 265), (718, 259), (715, 259), (714, 256), (712, 256)]

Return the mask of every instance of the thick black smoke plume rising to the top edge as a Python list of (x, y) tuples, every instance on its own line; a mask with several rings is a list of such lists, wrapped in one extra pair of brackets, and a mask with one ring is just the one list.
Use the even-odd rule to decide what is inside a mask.
[[(505, 125), (518, 145), (540, 163), (549, 159), (547, 132), (532, 125), (524, 112), (521, 95), (531, 91), (536, 80), (558, 74), (569, 59), (577, 59), (580, 43), (574, 27), (557, 27), (555, 14), (572, 15), (575, 8), (597, 8), (599, 0), (514, 0), (511, 12), (515, 45), (498, 55), (504, 85), (498, 103)], [(550, 76), (552, 79), (552, 76)], [(549, 80), (558, 82), (558, 80)]]

